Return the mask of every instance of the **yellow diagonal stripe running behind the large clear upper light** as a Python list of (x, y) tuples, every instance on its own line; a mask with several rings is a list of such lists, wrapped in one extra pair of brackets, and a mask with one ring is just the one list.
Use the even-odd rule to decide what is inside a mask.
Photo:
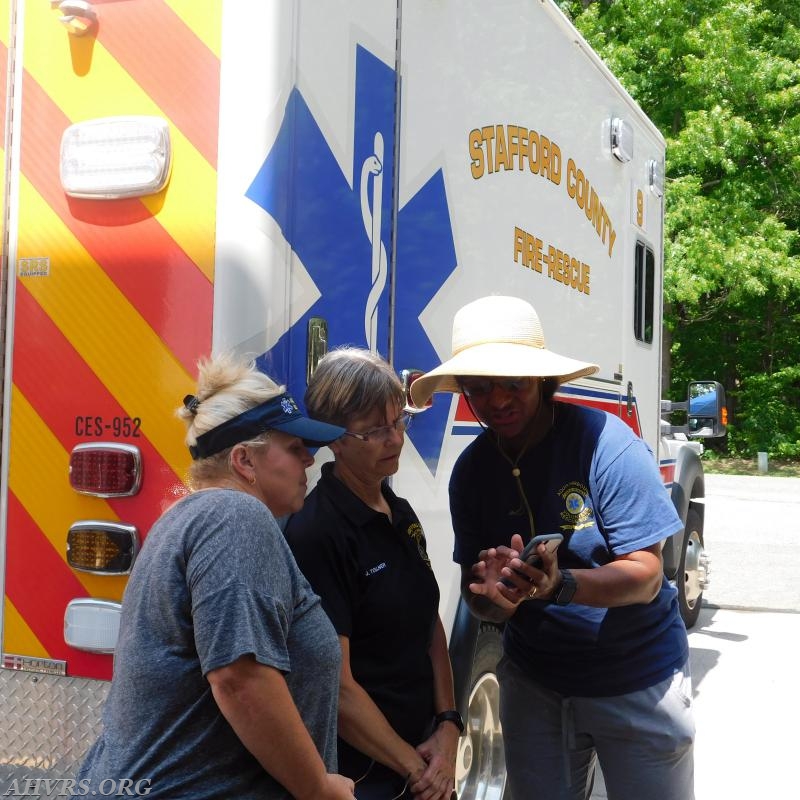
[[(91, 46), (81, 69), (73, 66), (70, 46), (70, 36), (48, 3), (26, 4), (25, 68), (72, 122), (130, 114), (167, 118), (98, 41), (78, 45)], [(202, 100), (187, 97), (195, 101)], [(176, 127), (170, 126), (170, 135), (173, 168), (167, 190), (142, 202), (211, 280), (216, 172)]]

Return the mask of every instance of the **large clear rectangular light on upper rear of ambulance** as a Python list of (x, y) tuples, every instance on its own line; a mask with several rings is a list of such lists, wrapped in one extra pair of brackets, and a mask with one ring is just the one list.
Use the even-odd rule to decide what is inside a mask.
[(61, 186), (70, 197), (143, 197), (164, 188), (171, 161), (169, 126), (159, 117), (79, 122), (61, 139)]

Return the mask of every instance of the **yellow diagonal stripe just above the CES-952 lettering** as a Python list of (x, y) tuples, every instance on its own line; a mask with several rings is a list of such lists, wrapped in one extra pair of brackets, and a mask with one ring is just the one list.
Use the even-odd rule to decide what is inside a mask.
[(174, 416), (192, 378), (28, 180), (20, 181), (19, 257), (47, 256), (50, 275), (20, 278), (164, 460), (182, 475), (185, 431)]

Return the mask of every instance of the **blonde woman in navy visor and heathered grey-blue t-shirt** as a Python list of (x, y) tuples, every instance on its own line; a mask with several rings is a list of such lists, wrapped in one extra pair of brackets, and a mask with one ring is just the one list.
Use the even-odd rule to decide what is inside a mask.
[(344, 430), (232, 357), (201, 362), (178, 413), (194, 491), (133, 567), (81, 794), (352, 800), (336, 774), (339, 643), (273, 516), (303, 505), (306, 445)]

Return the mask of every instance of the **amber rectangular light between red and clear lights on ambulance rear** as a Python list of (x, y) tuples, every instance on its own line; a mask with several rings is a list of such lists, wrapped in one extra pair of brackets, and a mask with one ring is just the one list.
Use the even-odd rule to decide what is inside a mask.
[(139, 549), (133, 525), (82, 520), (67, 533), (67, 563), (80, 572), (127, 575)]

